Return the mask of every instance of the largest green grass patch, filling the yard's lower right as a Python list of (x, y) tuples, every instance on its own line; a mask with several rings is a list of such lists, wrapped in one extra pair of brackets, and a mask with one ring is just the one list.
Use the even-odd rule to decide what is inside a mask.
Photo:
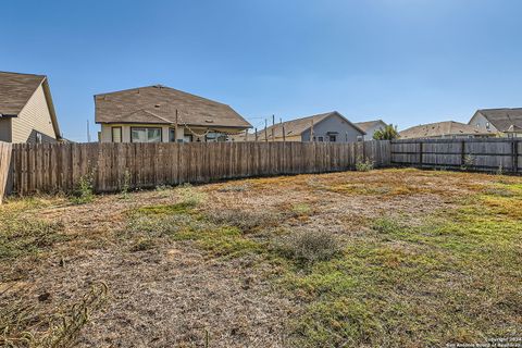
[(484, 343), (522, 330), (522, 225), (511, 197), (477, 195), (419, 224), (374, 220), (338, 258), (283, 278), (300, 347)]

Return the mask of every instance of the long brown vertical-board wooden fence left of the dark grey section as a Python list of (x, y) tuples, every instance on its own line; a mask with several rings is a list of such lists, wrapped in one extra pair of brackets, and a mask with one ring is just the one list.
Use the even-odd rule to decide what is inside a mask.
[(389, 141), (14, 145), (12, 191), (71, 191), (92, 178), (99, 192), (249, 176), (389, 165)]

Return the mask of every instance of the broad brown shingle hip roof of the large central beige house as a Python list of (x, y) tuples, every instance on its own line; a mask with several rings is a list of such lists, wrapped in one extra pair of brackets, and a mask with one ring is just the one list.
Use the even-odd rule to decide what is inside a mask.
[(231, 107), (157, 85), (95, 96), (97, 123), (154, 123), (250, 128)]

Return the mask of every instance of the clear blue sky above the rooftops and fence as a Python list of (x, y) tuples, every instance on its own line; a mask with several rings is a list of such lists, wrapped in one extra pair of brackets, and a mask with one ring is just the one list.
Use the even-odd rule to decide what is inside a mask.
[(399, 129), (522, 107), (522, 1), (4, 1), (0, 71), (49, 76), (65, 137), (92, 95), (163, 84), (254, 126), (337, 110)]

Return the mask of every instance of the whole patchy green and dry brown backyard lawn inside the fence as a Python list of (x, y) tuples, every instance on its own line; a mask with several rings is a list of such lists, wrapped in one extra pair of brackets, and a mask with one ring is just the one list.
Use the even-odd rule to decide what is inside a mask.
[(388, 169), (77, 196), (0, 206), (0, 346), (522, 333), (521, 177)]

